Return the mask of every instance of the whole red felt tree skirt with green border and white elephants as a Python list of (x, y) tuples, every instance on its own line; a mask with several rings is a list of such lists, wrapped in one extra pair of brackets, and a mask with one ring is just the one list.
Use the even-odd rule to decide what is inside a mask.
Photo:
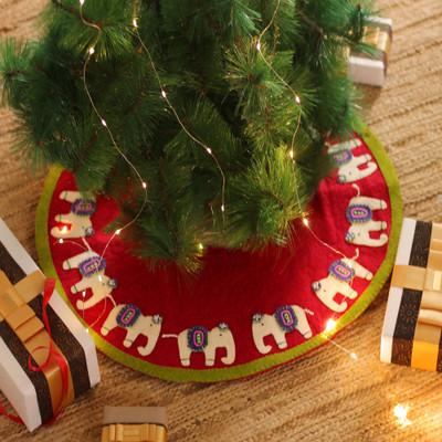
[[(87, 274), (97, 264), (91, 261), (88, 269), (81, 265), (83, 276), (78, 261), (94, 252), (102, 254), (109, 238), (103, 229), (118, 208), (110, 199), (98, 198), (91, 218), (74, 214), (78, 203), (74, 207), (67, 200), (77, 196), (65, 191), (76, 190), (75, 180), (53, 168), (36, 220), (43, 270), (57, 277), (60, 293), (90, 328), (97, 347), (143, 372), (171, 380), (217, 381), (292, 360), (326, 341), (323, 332), (329, 318), (337, 322), (335, 332), (354, 320), (380, 291), (393, 264), (401, 224), (397, 178), (386, 151), (368, 130), (364, 140), (356, 139), (359, 146), (337, 152), (339, 170), (322, 182), (309, 207), (312, 230), (355, 257), (359, 265), (354, 261), (352, 269), (343, 263), (330, 267), (341, 256), (299, 222), (293, 248), (271, 246), (262, 253), (210, 250), (194, 280), (172, 270), (150, 271), (130, 254), (124, 238), (110, 243), (105, 270)], [(339, 182), (338, 175), (346, 176), (347, 182)], [(352, 185), (369, 199), (355, 200)], [(346, 215), (350, 201), (357, 206), (351, 210), (351, 229)], [(63, 222), (56, 221), (60, 214)], [(367, 221), (370, 215), (377, 223)], [(90, 222), (94, 235), (85, 241), (69, 238), (81, 235)], [(66, 232), (60, 230), (64, 225)], [(380, 231), (369, 233), (372, 228)], [(347, 242), (349, 229), (361, 232), (356, 234), (358, 242), (371, 239), (369, 245)], [(76, 257), (87, 251), (85, 244), (92, 252)], [(118, 282), (116, 288), (109, 278)], [(88, 308), (82, 308), (83, 299)]]

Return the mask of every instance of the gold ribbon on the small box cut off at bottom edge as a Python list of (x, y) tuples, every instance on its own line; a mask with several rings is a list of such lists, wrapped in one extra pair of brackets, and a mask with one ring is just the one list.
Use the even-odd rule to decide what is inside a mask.
[(167, 442), (167, 430), (152, 423), (113, 423), (103, 427), (102, 442)]

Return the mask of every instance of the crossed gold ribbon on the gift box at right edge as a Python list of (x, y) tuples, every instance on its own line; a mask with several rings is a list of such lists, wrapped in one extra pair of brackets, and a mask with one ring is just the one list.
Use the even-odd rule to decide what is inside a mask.
[(428, 267), (394, 265), (391, 285), (422, 291), (411, 366), (436, 370), (442, 335), (442, 224), (432, 225)]

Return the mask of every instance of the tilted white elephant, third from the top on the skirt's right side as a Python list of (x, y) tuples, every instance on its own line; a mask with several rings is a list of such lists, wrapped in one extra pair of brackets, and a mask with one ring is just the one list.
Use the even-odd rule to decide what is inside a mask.
[(335, 301), (338, 293), (350, 299), (358, 296), (358, 293), (351, 287), (352, 280), (356, 276), (371, 281), (372, 273), (356, 262), (358, 255), (359, 251), (357, 250), (354, 259), (346, 257), (334, 261), (328, 269), (328, 276), (312, 284), (312, 288), (319, 301), (330, 311), (341, 313), (348, 307), (345, 299), (341, 303)]

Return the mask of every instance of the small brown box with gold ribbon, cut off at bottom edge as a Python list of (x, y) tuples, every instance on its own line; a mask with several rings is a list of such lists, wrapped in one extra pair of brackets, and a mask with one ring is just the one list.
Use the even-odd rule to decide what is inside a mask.
[(102, 442), (167, 442), (162, 407), (105, 407)]

